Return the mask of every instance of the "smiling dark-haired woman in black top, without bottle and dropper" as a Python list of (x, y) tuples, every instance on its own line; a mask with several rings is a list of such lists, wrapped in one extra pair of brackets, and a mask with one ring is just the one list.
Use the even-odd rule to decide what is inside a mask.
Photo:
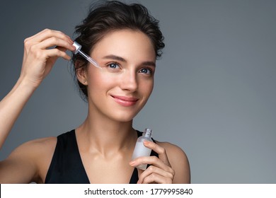
[[(58, 137), (29, 141), (0, 163), (1, 183), (188, 183), (185, 153), (173, 144), (145, 141), (151, 156), (131, 159), (137, 137), (132, 120), (154, 86), (163, 35), (144, 6), (109, 1), (76, 27), (76, 41), (101, 69), (73, 55), (86, 120)], [(0, 144), (57, 58), (71, 59), (73, 41), (57, 30), (25, 40), (21, 75), (0, 103)], [(54, 47), (57, 46), (57, 47)], [(148, 164), (146, 170), (137, 165)]]

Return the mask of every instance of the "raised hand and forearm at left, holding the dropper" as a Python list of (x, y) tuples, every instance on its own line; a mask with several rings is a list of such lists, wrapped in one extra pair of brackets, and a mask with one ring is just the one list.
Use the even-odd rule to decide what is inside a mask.
[(30, 96), (49, 74), (57, 58), (69, 60), (65, 53), (74, 51), (73, 41), (56, 30), (45, 29), (24, 42), (21, 75), (13, 89), (0, 100), (0, 148)]

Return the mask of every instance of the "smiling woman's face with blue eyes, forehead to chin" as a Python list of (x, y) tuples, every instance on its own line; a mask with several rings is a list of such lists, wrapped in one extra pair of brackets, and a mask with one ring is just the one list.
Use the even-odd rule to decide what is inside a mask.
[(156, 54), (149, 37), (138, 30), (115, 30), (91, 52), (102, 69), (86, 71), (89, 110), (127, 122), (144, 107), (154, 87)]

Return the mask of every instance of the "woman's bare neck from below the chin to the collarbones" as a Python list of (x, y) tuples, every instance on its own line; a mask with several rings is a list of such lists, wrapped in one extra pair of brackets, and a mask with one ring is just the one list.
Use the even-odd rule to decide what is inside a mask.
[(129, 122), (117, 122), (108, 117), (88, 113), (86, 120), (76, 129), (81, 148), (103, 155), (113, 155), (118, 151), (134, 147), (137, 133)]

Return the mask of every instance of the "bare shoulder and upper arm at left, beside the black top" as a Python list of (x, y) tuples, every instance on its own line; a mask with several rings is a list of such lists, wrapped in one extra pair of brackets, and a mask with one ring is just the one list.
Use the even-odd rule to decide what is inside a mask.
[(0, 162), (1, 183), (42, 182), (56, 144), (56, 137), (47, 137), (18, 146)]

